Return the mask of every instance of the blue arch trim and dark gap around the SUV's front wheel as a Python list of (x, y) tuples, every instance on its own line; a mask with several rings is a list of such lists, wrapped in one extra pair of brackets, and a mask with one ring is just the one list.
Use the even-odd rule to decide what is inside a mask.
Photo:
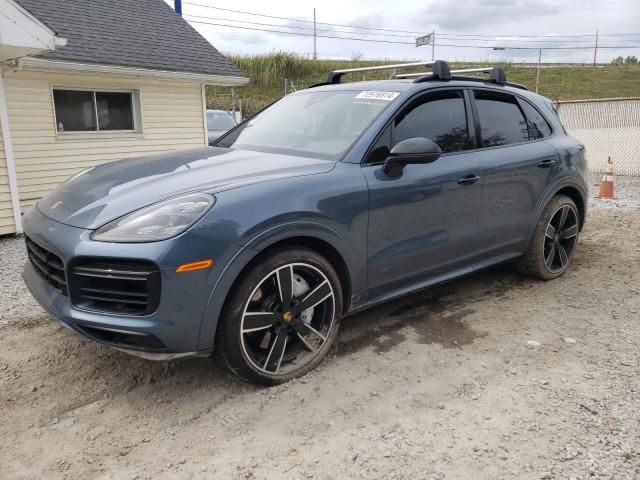
[[(320, 224), (282, 225), (254, 237), (235, 255), (214, 285), (200, 327), (198, 347), (211, 349), (218, 318), (233, 285), (251, 266), (274, 248), (299, 245), (318, 252), (336, 269), (342, 288), (343, 313), (350, 307), (354, 289), (354, 272), (349, 266), (342, 238), (333, 229)], [(352, 255), (352, 254), (351, 254)]]

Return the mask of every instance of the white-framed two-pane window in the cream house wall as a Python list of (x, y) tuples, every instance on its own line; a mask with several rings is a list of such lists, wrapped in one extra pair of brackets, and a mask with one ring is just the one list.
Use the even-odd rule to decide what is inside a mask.
[(136, 130), (134, 100), (134, 92), (54, 88), (58, 134)]

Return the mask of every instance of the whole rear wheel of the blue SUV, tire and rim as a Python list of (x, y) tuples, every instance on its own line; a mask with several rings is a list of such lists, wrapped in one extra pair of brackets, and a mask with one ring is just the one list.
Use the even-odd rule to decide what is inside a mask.
[(578, 245), (580, 213), (569, 197), (556, 195), (542, 211), (526, 253), (518, 260), (520, 273), (541, 280), (562, 275)]

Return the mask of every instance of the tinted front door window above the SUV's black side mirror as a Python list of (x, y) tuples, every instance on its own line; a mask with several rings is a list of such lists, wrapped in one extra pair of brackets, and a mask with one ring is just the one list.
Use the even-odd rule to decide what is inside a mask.
[(469, 145), (467, 116), (461, 91), (429, 95), (395, 121), (394, 145), (412, 137), (437, 143), (444, 153), (466, 150)]

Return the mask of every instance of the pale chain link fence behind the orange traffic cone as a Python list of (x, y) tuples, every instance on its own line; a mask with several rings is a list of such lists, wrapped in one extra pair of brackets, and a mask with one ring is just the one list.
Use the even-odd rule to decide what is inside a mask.
[(616, 175), (640, 176), (640, 97), (557, 104), (568, 132), (587, 147), (591, 172), (603, 173), (607, 158)]

